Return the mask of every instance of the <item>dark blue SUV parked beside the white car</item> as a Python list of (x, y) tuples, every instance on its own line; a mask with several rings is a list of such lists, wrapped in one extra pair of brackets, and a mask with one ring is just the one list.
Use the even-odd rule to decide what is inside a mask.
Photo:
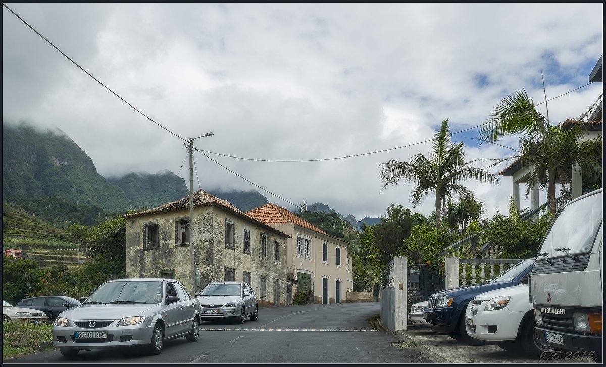
[(465, 329), (467, 305), (478, 294), (512, 285), (527, 284), (528, 274), (532, 271), (534, 260), (527, 259), (516, 263), (494, 279), (432, 294), (427, 309), (423, 311), (423, 319), (431, 323), (431, 329), (434, 332), (447, 333), (455, 338), (461, 337), (465, 342), (471, 344), (485, 343), (467, 335)]

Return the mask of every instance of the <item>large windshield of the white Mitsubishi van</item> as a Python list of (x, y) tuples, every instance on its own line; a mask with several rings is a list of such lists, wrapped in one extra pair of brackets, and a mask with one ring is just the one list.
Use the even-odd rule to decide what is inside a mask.
[(547, 257), (565, 256), (556, 248), (567, 248), (568, 253), (588, 253), (603, 220), (603, 193), (599, 192), (570, 203), (558, 214), (541, 245)]

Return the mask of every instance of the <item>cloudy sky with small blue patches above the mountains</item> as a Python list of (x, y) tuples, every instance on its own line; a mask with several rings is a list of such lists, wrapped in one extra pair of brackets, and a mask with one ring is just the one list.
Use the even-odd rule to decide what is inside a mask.
[[(4, 4), (141, 113), (3, 7), (3, 123), (64, 131), (105, 177), (169, 170), (187, 184), (184, 142), (213, 132), (195, 141), (216, 161), (196, 152), (195, 190), (257, 190), (358, 220), (391, 203), (433, 211), (433, 196), (412, 207), (413, 184), (381, 192), (379, 170), (427, 154), (442, 120), (474, 127), (453, 135), (468, 160), (508, 157), (473, 139), (501, 99), (544, 102), (543, 76), (557, 123), (603, 88), (587, 85), (603, 3)], [(465, 182), (486, 216), (507, 213), (511, 178), (499, 178)]]

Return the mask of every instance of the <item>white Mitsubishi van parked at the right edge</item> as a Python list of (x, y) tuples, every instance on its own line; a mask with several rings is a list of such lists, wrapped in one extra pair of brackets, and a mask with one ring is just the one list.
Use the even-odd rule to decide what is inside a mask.
[(543, 240), (528, 283), (538, 342), (551, 359), (602, 363), (603, 189), (568, 203)]

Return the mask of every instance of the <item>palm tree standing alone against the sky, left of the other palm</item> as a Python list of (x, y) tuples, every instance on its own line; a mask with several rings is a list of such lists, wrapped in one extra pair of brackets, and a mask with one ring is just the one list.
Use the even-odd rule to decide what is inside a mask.
[(436, 194), (436, 228), (441, 222), (442, 203), (451, 194), (463, 196), (469, 193), (464, 185), (459, 184), (461, 180), (478, 179), (491, 184), (498, 183), (496, 176), (482, 168), (470, 167), (473, 162), (465, 162), (463, 143), (453, 144), (450, 140), (450, 128), (448, 119), (442, 121), (440, 130), (433, 139), (431, 153), (428, 157), (419, 154), (413, 157), (411, 162), (400, 162), (390, 159), (382, 164), (379, 179), (385, 182), (381, 191), (389, 185), (397, 185), (401, 180), (414, 182), (417, 186), (413, 189), (410, 200), (416, 207), (421, 200), (430, 193)]

